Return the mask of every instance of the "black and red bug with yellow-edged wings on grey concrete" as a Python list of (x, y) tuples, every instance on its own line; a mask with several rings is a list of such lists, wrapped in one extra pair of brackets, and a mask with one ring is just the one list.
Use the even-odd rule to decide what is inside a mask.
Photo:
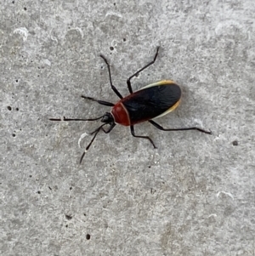
[[(105, 101), (105, 100), (96, 100), (92, 97), (83, 96), (83, 99), (92, 100), (98, 102), (100, 105), (111, 106), (111, 112), (106, 112), (103, 116), (97, 118), (87, 118), (87, 119), (79, 119), (79, 118), (50, 118), (51, 121), (96, 121), (101, 119), (101, 122), (104, 122), (99, 128), (96, 128), (91, 134), (94, 134), (93, 139), (91, 139), (90, 143), (86, 147), (85, 151), (82, 154), (80, 159), (80, 163), (82, 162), (85, 153), (88, 151), (89, 147), (94, 142), (99, 131), (102, 130), (105, 134), (111, 132), (111, 130), (116, 126), (116, 124), (121, 124), (124, 126), (129, 126), (131, 134), (133, 137), (148, 139), (150, 143), (156, 148), (153, 140), (150, 139), (149, 136), (141, 136), (134, 133), (133, 125), (139, 122), (150, 122), (156, 128), (162, 131), (184, 131), (184, 130), (197, 130), (201, 133), (211, 134), (211, 131), (206, 131), (201, 128), (190, 127), (190, 128), (163, 128), (160, 124), (155, 122), (152, 119), (157, 117), (165, 116), (167, 113), (175, 110), (181, 99), (181, 89), (172, 80), (162, 80), (160, 82), (155, 82), (145, 86), (144, 88), (139, 89), (136, 92), (133, 92), (131, 87), (131, 79), (139, 75), (141, 71), (144, 71), (147, 67), (154, 64), (156, 61), (156, 57), (158, 55), (159, 47), (156, 48), (156, 54), (154, 59), (150, 61), (149, 64), (144, 65), (143, 68), (136, 71), (131, 77), (127, 78), (127, 88), (129, 91), (129, 95), (123, 97), (122, 94), (116, 89), (116, 87), (112, 84), (111, 81), (111, 68), (108, 61), (105, 59), (105, 56), (100, 55), (100, 57), (105, 61), (105, 64), (108, 68), (109, 79), (111, 84), (111, 89), (114, 93), (120, 98), (116, 104)], [(105, 129), (105, 125), (109, 125), (108, 128)]]

